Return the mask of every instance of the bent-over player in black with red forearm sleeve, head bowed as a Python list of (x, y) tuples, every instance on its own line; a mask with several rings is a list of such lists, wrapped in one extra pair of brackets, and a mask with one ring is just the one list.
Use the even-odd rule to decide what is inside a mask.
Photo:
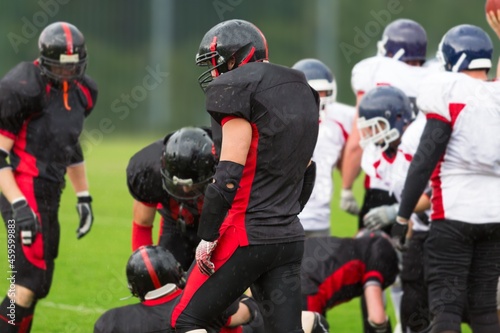
[(134, 197), (132, 250), (153, 244), (158, 212), (158, 245), (189, 269), (200, 242), (196, 231), (215, 165), (211, 132), (198, 127), (183, 127), (132, 156), (127, 166), (127, 185)]

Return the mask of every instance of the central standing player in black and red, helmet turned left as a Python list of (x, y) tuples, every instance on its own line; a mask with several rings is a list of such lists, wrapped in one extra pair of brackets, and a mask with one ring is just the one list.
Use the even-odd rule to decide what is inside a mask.
[(214, 26), (196, 59), (208, 66), (199, 81), (220, 162), (205, 192), (197, 265), (172, 324), (204, 332), (251, 286), (261, 310), (272, 306), (262, 311), (266, 332), (303, 332), (297, 215), (314, 183), (318, 94), (299, 71), (268, 63), (265, 37), (247, 21)]

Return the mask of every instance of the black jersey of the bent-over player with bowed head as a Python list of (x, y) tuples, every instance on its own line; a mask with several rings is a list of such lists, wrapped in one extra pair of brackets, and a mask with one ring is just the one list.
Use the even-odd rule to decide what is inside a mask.
[(167, 222), (182, 220), (187, 226), (198, 225), (203, 197), (179, 201), (163, 189), (161, 154), (163, 139), (153, 142), (134, 154), (127, 166), (127, 186), (130, 194), (145, 205), (156, 207)]

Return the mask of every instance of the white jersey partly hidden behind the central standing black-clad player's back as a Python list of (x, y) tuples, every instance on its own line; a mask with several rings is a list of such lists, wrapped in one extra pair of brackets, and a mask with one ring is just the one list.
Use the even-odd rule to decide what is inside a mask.
[(316, 163), (316, 180), (311, 197), (299, 215), (306, 231), (330, 228), (332, 172), (342, 155), (355, 113), (353, 106), (333, 103), (327, 107), (319, 125), (318, 141), (312, 158)]

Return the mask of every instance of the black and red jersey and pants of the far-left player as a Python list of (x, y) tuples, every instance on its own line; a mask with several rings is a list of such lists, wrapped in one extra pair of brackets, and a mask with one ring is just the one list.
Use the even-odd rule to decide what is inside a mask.
[[(52, 283), (64, 175), (68, 166), (83, 162), (79, 136), (97, 98), (88, 76), (70, 81), (67, 92), (56, 85), (40, 74), (37, 61), (20, 63), (0, 81), (0, 134), (14, 140), (14, 177), (42, 226), (31, 246), (16, 249), (16, 284), (37, 299), (47, 296)], [(3, 195), (0, 209), (5, 222), (12, 219)]]

